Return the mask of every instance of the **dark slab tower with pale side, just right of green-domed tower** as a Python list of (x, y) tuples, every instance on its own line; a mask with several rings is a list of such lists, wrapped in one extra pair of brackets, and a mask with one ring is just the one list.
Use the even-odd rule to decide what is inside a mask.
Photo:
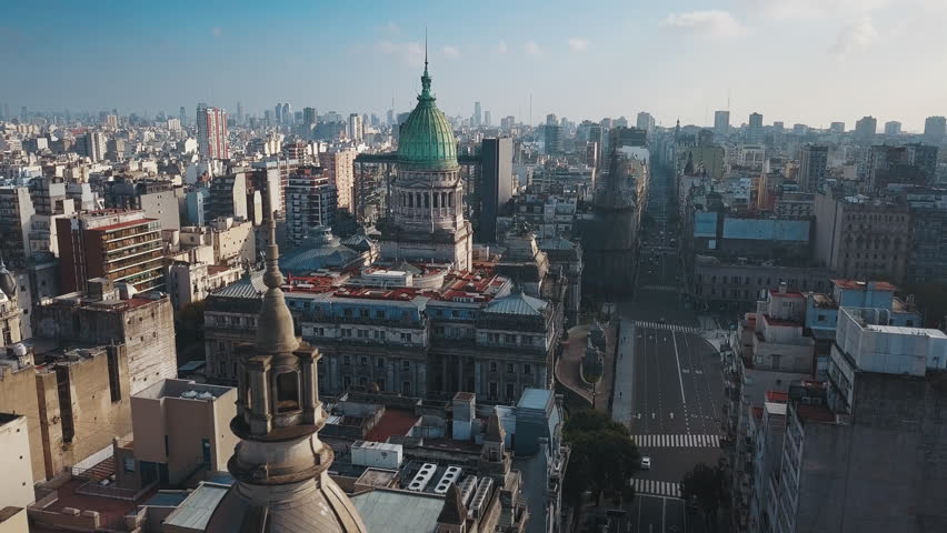
[(484, 139), (480, 143), (480, 213), (478, 240), (495, 242), (497, 217), (512, 198), (512, 139)]

